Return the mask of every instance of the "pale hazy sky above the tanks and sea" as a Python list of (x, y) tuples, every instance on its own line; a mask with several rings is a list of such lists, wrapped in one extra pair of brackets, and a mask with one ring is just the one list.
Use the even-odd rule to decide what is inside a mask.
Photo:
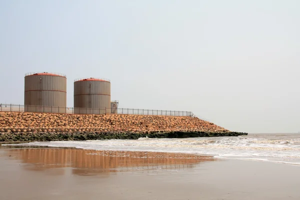
[(111, 80), (119, 107), (300, 130), (299, 0), (0, 0), (0, 103), (24, 73)]

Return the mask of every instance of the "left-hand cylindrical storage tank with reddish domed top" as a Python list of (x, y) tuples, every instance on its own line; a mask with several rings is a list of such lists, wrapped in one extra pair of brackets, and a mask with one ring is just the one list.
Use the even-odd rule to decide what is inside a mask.
[(66, 76), (61, 73), (25, 74), (24, 111), (65, 112)]

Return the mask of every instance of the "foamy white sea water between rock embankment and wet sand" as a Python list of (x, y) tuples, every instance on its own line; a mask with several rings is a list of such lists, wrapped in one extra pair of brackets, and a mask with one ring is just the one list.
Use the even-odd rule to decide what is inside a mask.
[(240, 137), (197, 137), (182, 139), (139, 138), (137, 140), (50, 141), (14, 145), (75, 147), (95, 150), (200, 153), (221, 158), (300, 164), (300, 138), (298, 134), (249, 134)]

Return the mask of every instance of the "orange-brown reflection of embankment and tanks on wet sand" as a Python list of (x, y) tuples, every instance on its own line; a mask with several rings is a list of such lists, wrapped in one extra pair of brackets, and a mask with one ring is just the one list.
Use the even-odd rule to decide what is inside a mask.
[(7, 154), (26, 163), (28, 170), (72, 167), (72, 174), (93, 175), (120, 171), (181, 171), (211, 156), (184, 153), (99, 151), (75, 148), (6, 149)]

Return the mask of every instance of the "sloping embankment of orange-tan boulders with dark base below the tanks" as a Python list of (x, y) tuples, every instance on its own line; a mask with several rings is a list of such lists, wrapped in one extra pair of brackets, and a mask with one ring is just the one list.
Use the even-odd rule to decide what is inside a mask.
[(237, 136), (190, 116), (0, 112), (0, 141)]

